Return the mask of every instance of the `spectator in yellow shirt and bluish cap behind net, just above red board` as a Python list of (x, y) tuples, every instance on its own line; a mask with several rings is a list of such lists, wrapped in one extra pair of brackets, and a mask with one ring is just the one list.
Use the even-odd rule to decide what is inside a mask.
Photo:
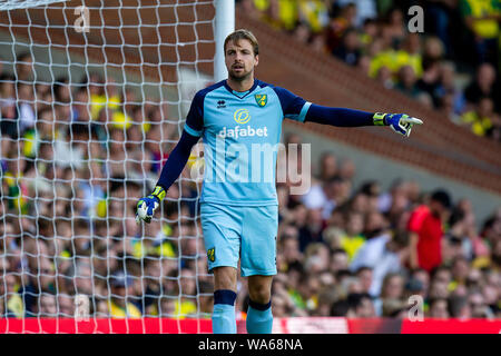
[(115, 273), (110, 278), (111, 294), (108, 310), (111, 318), (140, 318), (141, 312), (127, 297), (132, 295), (132, 280), (124, 271)]

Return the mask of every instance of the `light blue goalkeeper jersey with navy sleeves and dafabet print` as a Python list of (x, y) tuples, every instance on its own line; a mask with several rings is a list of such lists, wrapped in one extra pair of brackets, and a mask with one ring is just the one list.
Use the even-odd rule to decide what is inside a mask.
[(291, 91), (254, 81), (236, 92), (226, 80), (198, 91), (185, 131), (204, 141), (202, 202), (277, 205), (277, 145), (284, 118), (304, 121), (311, 102)]

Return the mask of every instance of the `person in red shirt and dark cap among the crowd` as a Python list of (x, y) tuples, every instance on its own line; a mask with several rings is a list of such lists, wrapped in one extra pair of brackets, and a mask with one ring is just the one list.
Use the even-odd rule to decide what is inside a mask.
[(411, 268), (429, 273), (442, 264), (443, 224), (449, 218), (451, 198), (444, 190), (435, 190), (428, 205), (415, 208), (409, 219)]

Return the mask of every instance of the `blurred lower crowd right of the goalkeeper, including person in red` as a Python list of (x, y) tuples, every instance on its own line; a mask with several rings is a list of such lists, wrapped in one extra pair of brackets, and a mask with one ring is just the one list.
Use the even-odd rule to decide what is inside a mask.
[(425, 317), (501, 317), (501, 207), (477, 221), (446, 189), (355, 187), (353, 161), (327, 151), (315, 168), (304, 196), (277, 187), (276, 316), (406, 318), (418, 298)]

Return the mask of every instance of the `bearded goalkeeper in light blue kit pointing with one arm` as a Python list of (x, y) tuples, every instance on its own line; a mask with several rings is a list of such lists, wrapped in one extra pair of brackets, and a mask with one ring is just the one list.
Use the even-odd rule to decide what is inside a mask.
[[(195, 95), (179, 142), (165, 164), (155, 190), (138, 201), (136, 218), (138, 222), (151, 220), (167, 189), (184, 169), (191, 148), (203, 137), (205, 177), (200, 219), (208, 268), (214, 274), (213, 332), (236, 333), (235, 299), (240, 260), (240, 274), (248, 277), (247, 332), (269, 334), (278, 228), (276, 150), (273, 160), (259, 160), (259, 167), (252, 166), (254, 159), (247, 158), (248, 152), (266, 145), (276, 147), (284, 118), (340, 127), (389, 126), (403, 136), (409, 136), (412, 126), (422, 121), (403, 113), (314, 105), (255, 79), (258, 43), (247, 30), (230, 33), (224, 50), (228, 79)], [(235, 166), (239, 167), (238, 174), (229, 168)], [(273, 179), (254, 179), (255, 171), (273, 172)]]

